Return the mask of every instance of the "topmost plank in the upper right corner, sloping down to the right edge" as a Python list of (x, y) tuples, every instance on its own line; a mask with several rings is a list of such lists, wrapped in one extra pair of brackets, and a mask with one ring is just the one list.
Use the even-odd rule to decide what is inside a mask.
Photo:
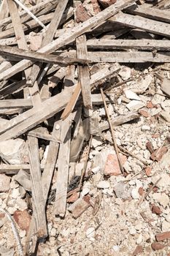
[(158, 10), (151, 7), (144, 7), (142, 5), (133, 5), (132, 7), (128, 7), (125, 11), (134, 15), (150, 18), (152, 20), (170, 23), (169, 10)]

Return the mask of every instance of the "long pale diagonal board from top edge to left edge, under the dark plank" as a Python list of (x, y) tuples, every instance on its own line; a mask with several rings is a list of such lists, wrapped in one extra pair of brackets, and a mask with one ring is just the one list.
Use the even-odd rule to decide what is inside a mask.
[[(38, 50), (38, 52), (52, 53), (53, 50), (57, 50), (58, 48), (61, 48), (63, 45), (67, 45), (70, 42), (73, 42), (76, 37), (79, 37), (81, 34), (84, 34), (89, 29), (93, 29), (95, 26), (98, 26), (99, 24), (104, 23), (105, 20), (109, 19), (120, 10), (123, 10), (125, 7), (130, 6), (134, 2), (135, 0), (117, 1), (115, 4), (112, 4), (110, 7), (103, 10), (102, 12), (99, 12), (97, 15), (93, 16), (89, 20), (86, 20), (84, 23), (80, 23), (79, 25), (77, 25), (76, 28), (72, 29), (72, 31), (69, 31), (66, 34), (63, 34), (63, 36), (58, 37), (58, 39), (55, 39), (50, 44), (41, 48), (40, 50)], [(0, 74), (0, 80), (7, 80), (12, 75), (15, 75), (21, 70), (31, 66), (31, 64), (32, 64), (31, 61), (27, 61), (27, 60), (20, 61), (18, 64), (15, 64), (10, 69), (7, 69), (6, 71), (2, 72)]]

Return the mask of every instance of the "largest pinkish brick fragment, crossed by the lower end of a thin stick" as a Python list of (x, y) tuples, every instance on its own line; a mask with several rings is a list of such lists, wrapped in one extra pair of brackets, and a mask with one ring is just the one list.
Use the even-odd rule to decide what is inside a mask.
[[(122, 165), (125, 164), (125, 161), (127, 160), (127, 157), (123, 156), (123, 154), (120, 154), (120, 161)], [(119, 161), (117, 159), (116, 154), (108, 154), (107, 156), (107, 162), (104, 166), (104, 175), (105, 176), (118, 176), (121, 174)]]

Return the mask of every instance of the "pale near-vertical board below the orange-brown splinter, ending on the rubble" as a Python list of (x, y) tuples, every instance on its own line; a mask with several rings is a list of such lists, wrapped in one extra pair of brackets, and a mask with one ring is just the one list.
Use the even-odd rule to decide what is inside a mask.
[(58, 153), (58, 176), (55, 183), (55, 206), (54, 214), (64, 217), (66, 213), (66, 195), (69, 178), (69, 154), (71, 140), (72, 117), (69, 116), (61, 123), (61, 133), (66, 135), (64, 142), (60, 145)]

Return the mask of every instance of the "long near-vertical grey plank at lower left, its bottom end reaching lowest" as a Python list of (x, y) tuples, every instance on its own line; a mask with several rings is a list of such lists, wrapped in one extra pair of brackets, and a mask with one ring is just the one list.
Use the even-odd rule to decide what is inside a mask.
[(47, 236), (47, 223), (37, 138), (28, 136), (28, 150), (30, 159), (30, 174), (32, 184), (31, 192), (34, 201), (34, 219), (36, 224), (36, 233), (39, 238), (43, 238)]

